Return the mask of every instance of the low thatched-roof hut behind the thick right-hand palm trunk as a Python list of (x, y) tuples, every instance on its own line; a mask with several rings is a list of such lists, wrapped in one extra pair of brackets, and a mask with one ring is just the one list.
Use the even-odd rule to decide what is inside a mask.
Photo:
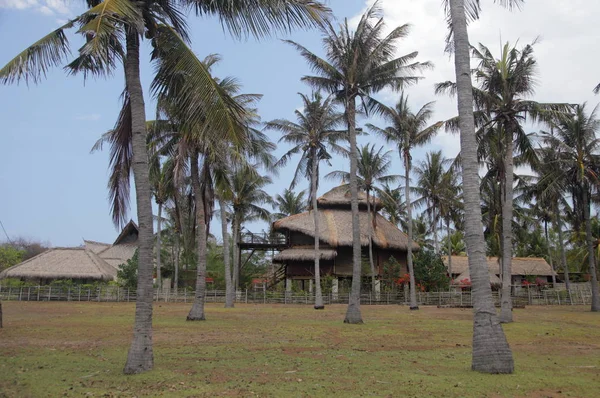
[[(448, 268), (448, 257), (443, 257), (444, 265)], [(498, 257), (487, 257), (488, 270), (490, 273), (490, 282), (500, 283), (500, 262)], [(511, 267), (511, 284), (521, 286), (524, 280), (540, 278), (544, 282), (551, 282), (552, 275), (556, 273), (552, 270), (550, 264), (540, 257), (513, 257)], [(459, 283), (462, 280), (469, 279), (469, 258), (467, 256), (452, 256), (452, 280)]]

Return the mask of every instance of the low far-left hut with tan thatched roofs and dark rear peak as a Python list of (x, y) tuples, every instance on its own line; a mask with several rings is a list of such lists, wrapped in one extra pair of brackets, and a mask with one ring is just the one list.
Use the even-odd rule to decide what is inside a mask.
[(137, 225), (130, 221), (112, 245), (84, 239), (81, 247), (52, 248), (5, 269), (0, 279), (18, 278), (40, 284), (56, 279), (82, 283), (112, 281), (117, 277), (119, 265), (133, 257), (137, 238)]

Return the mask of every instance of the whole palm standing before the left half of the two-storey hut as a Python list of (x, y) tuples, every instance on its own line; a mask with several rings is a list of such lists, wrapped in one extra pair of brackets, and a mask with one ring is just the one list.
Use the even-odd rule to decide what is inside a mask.
[(344, 138), (343, 131), (336, 128), (343, 121), (343, 114), (335, 109), (332, 96), (323, 100), (319, 92), (313, 93), (311, 97), (300, 94), (304, 104), (303, 112), (297, 110), (297, 123), (289, 120), (273, 120), (266, 127), (283, 133), (279, 142), (292, 144), (293, 147), (287, 151), (279, 160), (278, 165), (284, 166), (289, 159), (300, 153), (300, 160), (296, 167), (294, 178), (290, 183), (290, 189), (294, 188), (300, 175), (304, 175), (310, 181), (310, 193), (308, 201), (313, 212), (315, 224), (315, 309), (323, 309), (323, 295), (321, 293), (321, 268), (319, 252), (319, 210), (317, 208), (317, 190), (319, 187), (319, 164), (322, 161), (329, 162), (331, 150), (337, 148), (337, 142)]

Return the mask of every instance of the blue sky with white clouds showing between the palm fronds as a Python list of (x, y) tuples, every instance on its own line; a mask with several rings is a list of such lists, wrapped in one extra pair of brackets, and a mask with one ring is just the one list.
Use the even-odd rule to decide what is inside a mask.
[[(372, 1), (331, 0), (328, 5), (338, 18), (356, 18)], [(425, 79), (409, 90), (413, 107), (437, 100), (435, 120), (453, 116), (451, 99), (435, 98), (433, 84), (453, 80), (451, 59), (443, 53), (445, 34), (441, 0), (387, 0), (383, 9), (390, 27), (410, 22), (412, 34), (400, 44), (399, 54), (419, 50), (419, 60), (436, 65)], [(484, 2), (485, 3), (485, 2)], [(600, 39), (593, 15), (600, 6), (574, 0), (564, 7), (560, 0), (531, 0), (518, 14), (509, 14), (487, 2), (481, 22), (470, 28), (472, 42), (483, 41), (497, 50), (502, 41), (529, 43), (536, 36), (543, 40), (536, 46), (540, 66), (540, 101), (589, 101), (599, 97), (591, 89), (600, 82), (598, 56), (592, 54)], [(580, 3), (580, 4), (579, 4)], [(0, 0), (0, 65), (4, 65), (31, 43), (58, 27), (81, 10), (78, 2), (62, 0)], [(587, 22), (586, 22), (587, 21)], [(589, 22), (589, 23), (588, 23)], [(64, 22), (63, 22), (64, 23)], [(217, 76), (235, 76), (248, 93), (263, 94), (259, 112), (263, 121), (293, 118), (301, 104), (297, 92), (309, 92), (300, 78), (310, 73), (301, 57), (277, 38), (261, 41), (236, 41), (223, 32), (215, 19), (189, 19), (192, 47), (200, 56), (218, 53), (222, 62), (214, 69)], [(287, 36), (309, 49), (320, 52), (317, 31), (296, 31)], [(80, 38), (70, 34), (71, 48), (76, 51)], [(497, 51), (496, 51), (497, 52)], [(152, 67), (146, 46), (142, 59), (142, 83), (146, 94), (147, 117), (153, 118), (153, 101), (149, 95)], [(565, 71), (570, 71), (565, 73)], [(552, 84), (549, 84), (552, 82)], [(107, 152), (90, 154), (99, 136), (112, 128), (116, 120), (123, 88), (122, 70), (108, 79), (83, 80), (67, 76), (60, 68), (49, 71), (39, 85), (0, 87), (0, 220), (10, 237), (24, 236), (51, 243), (74, 246), (82, 238), (111, 242), (117, 235), (109, 215), (107, 201)], [(389, 104), (397, 94), (384, 92), (380, 98)], [(433, 121), (433, 120), (432, 120)], [(378, 121), (371, 121), (378, 123)], [(272, 140), (279, 136), (273, 133)], [(380, 142), (376, 137), (362, 142)], [(381, 143), (384, 145), (384, 143)], [(425, 150), (443, 149), (447, 156), (456, 155), (458, 137), (441, 134)], [(283, 153), (279, 148), (276, 155)], [(336, 159), (323, 174), (347, 168), (345, 160)], [(403, 170), (395, 163), (395, 174)], [(280, 193), (291, 179), (292, 167), (283, 170), (269, 191)], [(320, 193), (335, 185), (323, 181)], [(305, 188), (301, 186), (300, 188)], [(131, 216), (135, 219), (135, 207)], [(216, 226), (215, 226), (216, 227)], [(253, 228), (266, 228), (256, 226)], [(213, 228), (217, 230), (218, 228)], [(4, 240), (0, 231), (0, 241)]]

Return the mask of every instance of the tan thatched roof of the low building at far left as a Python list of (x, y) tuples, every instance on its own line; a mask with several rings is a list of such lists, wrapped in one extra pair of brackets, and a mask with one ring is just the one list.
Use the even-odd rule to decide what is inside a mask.
[(54, 248), (14, 265), (2, 278), (96, 279), (112, 281), (117, 270), (85, 248)]

